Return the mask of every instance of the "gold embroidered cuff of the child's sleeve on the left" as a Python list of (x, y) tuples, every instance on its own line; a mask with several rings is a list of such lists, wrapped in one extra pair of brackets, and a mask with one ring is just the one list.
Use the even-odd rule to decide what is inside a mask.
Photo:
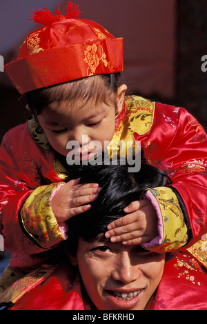
[(43, 248), (50, 248), (63, 241), (59, 224), (52, 212), (50, 198), (61, 183), (36, 188), (21, 208), (21, 222), (30, 239)]

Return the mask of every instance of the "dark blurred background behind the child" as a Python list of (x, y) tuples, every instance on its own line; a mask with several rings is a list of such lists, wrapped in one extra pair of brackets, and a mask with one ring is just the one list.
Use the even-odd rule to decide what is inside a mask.
[[(19, 46), (40, 26), (30, 10), (68, 1), (1, 0), (0, 55), (4, 63), (17, 59)], [(207, 0), (76, 0), (80, 18), (104, 26), (115, 37), (124, 37), (124, 72), (128, 92), (148, 99), (183, 106), (207, 131), (207, 72), (201, 57), (207, 55)], [(206, 57), (207, 59), (207, 57)], [(206, 64), (207, 68), (207, 64)], [(27, 120), (26, 102), (6, 72), (0, 72), (0, 139)], [(5, 252), (0, 252), (3, 259)], [(0, 263), (2, 264), (2, 263)], [(1, 272), (1, 266), (0, 266)]]

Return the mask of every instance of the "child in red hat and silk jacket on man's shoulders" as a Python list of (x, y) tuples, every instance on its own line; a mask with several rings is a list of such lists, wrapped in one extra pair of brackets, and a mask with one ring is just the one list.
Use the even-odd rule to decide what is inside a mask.
[(80, 186), (79, 179), (65, 183), (71, 141), (79, 143), (82, 161), (91, 157), (92, 141), (102, 147), (104, 141), (110, 147), (141, 141), (143, 158), (166, 169), (173, 181), (130, 203), (126, 216), (108, 225), (111, 241), (166, 252), (190, 247), (206, 233), (203, 128), (183, 108), (125, 97), (126, 85), (118, 85), (123, 40), (78, 14), (72, 3), (66, 17), (59, 10), (34, 12), (43, 27), (5, 66), (33, 113), (1, 145), (1, 233), (6, 250), (16, 253), (10, 261), (15, 272), (36, 267), (47, 251), (53, 257), (50, 250), (66, 239), (65, 221), (90, 209), (101, 190), (97, 183)]

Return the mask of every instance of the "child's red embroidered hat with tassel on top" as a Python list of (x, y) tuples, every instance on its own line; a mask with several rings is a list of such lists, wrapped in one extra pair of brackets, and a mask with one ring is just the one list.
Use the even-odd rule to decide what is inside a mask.
[(79, 6), (37, 10), (31, 16), (42, 28), (28, 34), (16, 61), (5, 70), (21, 94), (95, 74), (123, 70), (123, 39), (94, 21), (79, 19)]

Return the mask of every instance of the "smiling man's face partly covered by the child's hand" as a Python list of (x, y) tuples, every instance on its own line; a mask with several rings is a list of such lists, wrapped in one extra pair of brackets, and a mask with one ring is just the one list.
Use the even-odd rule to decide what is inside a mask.
[(100, 234), (79, 239), (77, 265), (83, 285), (98, 310), (144, 310), (164, 270), (164, 254), (139, 245), (111, 243)]

